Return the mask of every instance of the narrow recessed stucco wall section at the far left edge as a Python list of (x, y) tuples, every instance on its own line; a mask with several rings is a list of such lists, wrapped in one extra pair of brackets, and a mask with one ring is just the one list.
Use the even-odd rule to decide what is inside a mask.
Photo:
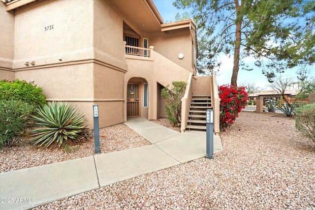
[(14, 12), (0, 3), (0, 80), (14, 80)]

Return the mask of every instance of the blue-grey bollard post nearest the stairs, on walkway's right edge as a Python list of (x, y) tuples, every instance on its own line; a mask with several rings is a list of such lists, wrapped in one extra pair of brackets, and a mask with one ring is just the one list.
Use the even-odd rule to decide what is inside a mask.
[(206, 143), (206, 153), (207, 158), (213, 159), (213, 110), (208, 109), (206, 111), (206, 128), (207, 128), (207, 143)]

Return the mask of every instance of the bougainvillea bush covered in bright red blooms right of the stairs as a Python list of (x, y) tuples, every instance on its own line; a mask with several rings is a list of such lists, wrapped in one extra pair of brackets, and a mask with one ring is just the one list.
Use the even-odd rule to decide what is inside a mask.
[(224, 130), (234, 123), (238, 113), (245, 108), (248, 94), (245, 87), (222, 85), (219, 87), (220, 105), (220, 129)]

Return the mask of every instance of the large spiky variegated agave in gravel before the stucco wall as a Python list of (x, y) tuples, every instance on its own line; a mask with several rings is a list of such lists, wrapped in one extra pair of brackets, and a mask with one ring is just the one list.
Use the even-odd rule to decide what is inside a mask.
[(68, 141), (89, 139), (87, 136), (90, 135), (86, 135), (86, 119), (72, 104), (53, 101), (37, 109), (37, 113), (39, 117), (32, 116), (34, 124), (40, 126), (32, 130), (34, 145), (49, 147), (56, 142), (60, 147)]

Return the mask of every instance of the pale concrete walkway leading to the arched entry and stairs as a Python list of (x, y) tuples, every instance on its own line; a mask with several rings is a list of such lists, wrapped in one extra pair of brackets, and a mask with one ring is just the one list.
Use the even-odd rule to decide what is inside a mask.
[(144, 118), (125, 124), (152, 145), (0, 173), (0, 209), (31, 209), (206, 156), (204, 131), (179, 133)]

